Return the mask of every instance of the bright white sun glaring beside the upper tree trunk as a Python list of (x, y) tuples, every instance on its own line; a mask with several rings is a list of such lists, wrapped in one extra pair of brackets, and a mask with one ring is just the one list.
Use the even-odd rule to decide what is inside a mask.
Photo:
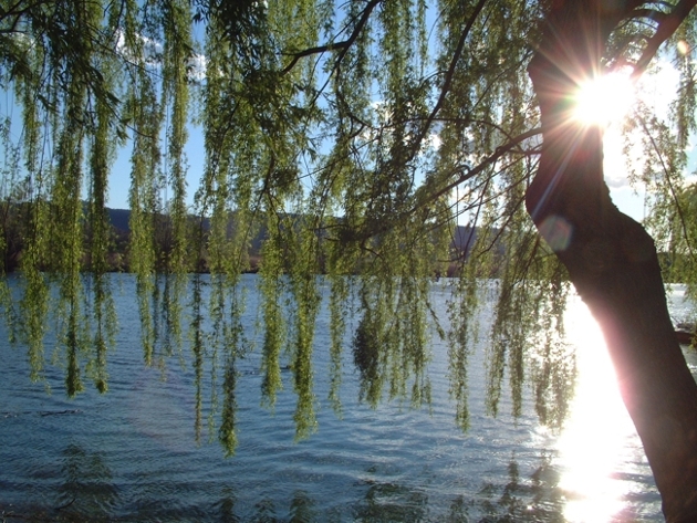
[(620, 123), (636, 100), (631, 70), (620, 70), (582, 82), (574, 96), (573, 119), (607, 127)]

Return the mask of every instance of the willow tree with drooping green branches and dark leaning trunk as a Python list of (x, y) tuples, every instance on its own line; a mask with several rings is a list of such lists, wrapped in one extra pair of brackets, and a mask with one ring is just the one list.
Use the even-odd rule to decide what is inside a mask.
[[(21, 245), (22, 276), (19, 297), (7, 281), (1, 295), (32, 378), (43, 375), (51, 313), (67, 393), (85, 377), (107, 389), (116, 318), (105, 206), (110, 181), (125, 177), (114, 159), (129, 154), (144, 360), (190, 347), (197, 430), (209, 389), (210, 430), (226, 452), (237, 438), (236, 366), (249, 351), (239, 274), (263, 231), (261, 398), (273, 406), (288, 351), (299, 437), (316, 425), (320, 286), (331, 290), (333, 405), (351, 339), (361, 399), (418, 406), (430, 394), (429, 282), (455, 268), (439, 334), (450, 344), (456, 422), (467, 428), (472, 313), (492, 275), (488, 408), (496, 415), (508, 377), (518, 414), (528, 379), (542, 421), (561, 422), (570, 281), (605, 334), (666, 519), (694, 521), (697, 387), (656, 244), (672, 278), (693, 283), (694, 189), (683, 176), (695, 132), (695, 3), (0, 2), (0, 248), (17, 263), (9, 250)], [(642, 226), (610, 198), (603, 130), (570, 112), (583, 82), (627, 67), (636, 80), (657, 56), (680, 81), (669, 114), (637, 106), (627, 125), (628, 139), (646, 145), (634, 179), (656, 209)], [(195, 125), (205, 150), (187, 158)], [(193, 195), (189, 174), (200, 174)], [(464, 249), (452, 249), (458, 220), (477, 231)], [(202, 278), (188, 275), (204, 270), (206, 303)], [(360, 323), (346, 333), (352, 304)]]

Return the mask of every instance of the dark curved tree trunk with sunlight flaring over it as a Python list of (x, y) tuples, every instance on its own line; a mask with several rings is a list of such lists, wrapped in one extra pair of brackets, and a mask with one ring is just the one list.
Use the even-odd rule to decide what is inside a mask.
[(603, 331), (666, 521), (695, 522), (697, 385), (675, 337), (656, 249), (611, 201), (602, 130), (582, 127), (568, 113), (578, 82), (599, 70), (610, 31), (631, 3), (553, 1), (528, 69), (543, 147), (526, 203)]

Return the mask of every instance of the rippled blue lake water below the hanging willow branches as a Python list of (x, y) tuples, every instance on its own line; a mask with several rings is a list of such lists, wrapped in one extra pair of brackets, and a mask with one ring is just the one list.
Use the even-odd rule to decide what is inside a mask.
[[(259, 317), (256, 282), (245, 276), (251, 336)], [(293, 441), (290, 374), (275, 414), (259, 407), (261, 377), (252, 354), (240, 367), (239, 447), (225, 459), (217, 443), (195, 442), (190, 365), (183, 368), (173, 358), (166, 381), (158, 379), (160, 370), (145, 368), (132, 276), (114, 275), (114, 289), (119, 331), (105, 396), (89, 388), (66, 399), (62, 369), (54, 367), (48, 395), (43, 384), (29, 380), (23, 347), (9, 346), (0, 332), (0, 521), (663, 520), (602, 337), (576, 302), (569, 328), (583, 351), (561, 433), (540, 426), (531, 401), (517, 420), (506, 402), (498, 418), (485, 416), (482, 349), (471, 362), (472, 427), (460, 432), (447, 393), (447, 347), (438, 338), (430, 412), (358, 404), (346, 349), (340, 420), (325, 399), (329, 330), (321, 316), (314, 359), (319, 432)], [(434, 293), (444, 305), (449, 291), (436, 284)], [(673, 295), (680, 313), (682, 290)], [(687, 357), (697, 368), (697, 357)]]

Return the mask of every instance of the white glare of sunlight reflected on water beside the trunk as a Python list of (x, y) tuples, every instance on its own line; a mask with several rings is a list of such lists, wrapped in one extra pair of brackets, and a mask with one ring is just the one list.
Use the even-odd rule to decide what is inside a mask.
[[(616, 470), (636, 451), (636, 431), (597, 323), (580, 300), (570, 304), (568, 337), (578, 345), (576, 393), (558, 440), (570, 523), (610, 522), (625, 508), (627, 483)], [(615, 517), (613, 517), (615, 516)]]

